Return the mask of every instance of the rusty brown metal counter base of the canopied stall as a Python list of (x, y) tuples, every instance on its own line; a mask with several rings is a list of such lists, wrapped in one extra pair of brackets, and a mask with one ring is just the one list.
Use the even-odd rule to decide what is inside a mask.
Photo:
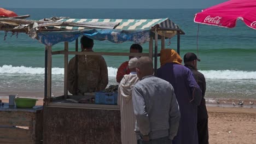
[(47, 144), (120, 144), (120, 131), (118, 105), (67, 103), (55, 99), (44, 106), (43, 136)]

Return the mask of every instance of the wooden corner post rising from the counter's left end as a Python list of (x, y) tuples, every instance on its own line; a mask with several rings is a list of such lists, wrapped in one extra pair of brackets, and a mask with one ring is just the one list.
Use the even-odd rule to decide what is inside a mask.
[(47, 98), (51, 98), (51, 46), (46, 46), (47, 47)]

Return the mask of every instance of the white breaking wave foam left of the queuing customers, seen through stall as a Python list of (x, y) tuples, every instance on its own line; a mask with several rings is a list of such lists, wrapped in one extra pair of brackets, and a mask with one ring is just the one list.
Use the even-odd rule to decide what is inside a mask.
[[(44, 74), (44, 68), (39, 67), (13, 67), (13, 65), (3, 65), (0, 67), (0, 74)], [(52, 68), (53, 75), (64, 75), (64, 68)], [(117, 68), (108, 67), (108, 76), (115, 77)]]

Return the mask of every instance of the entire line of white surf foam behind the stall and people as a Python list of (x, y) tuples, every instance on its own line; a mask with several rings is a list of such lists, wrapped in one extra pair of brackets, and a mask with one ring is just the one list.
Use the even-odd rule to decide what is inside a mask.
[[(256, 79), (256, 71), (241, 71), (241, 70), (199, 70), (206, 79)], [(39, 67), (13, 67), (12, 65), (3, 65), (0, 67), (0, 74), (44, 74), (44, 68)], [(64, 75), (64, 68), (53, 68), (53, 75)], [(115, 77), (117, 68), (108, 67), (108, 76)]]

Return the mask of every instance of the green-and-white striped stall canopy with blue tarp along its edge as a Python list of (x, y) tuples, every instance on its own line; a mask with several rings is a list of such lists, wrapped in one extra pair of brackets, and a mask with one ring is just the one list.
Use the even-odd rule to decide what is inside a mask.
[(91, 27), (74, 27), (74, 26), (54, 26), (48, 27), (53, 31), (38, 31), (37, 36), (41, 43), (45, 45), (54, 45), (62, 41), (73, 41), (80, 35), (85, 35), (94, 40), (109, 40), (113, 43), (123, 43), (125, 41), (133, 41), (142, 44), (150, 40), (151, 31), (155, 29), (159, 35), (166, 38), (172, 38), (179, 31), (184, 34), (170, 19), (60, 19), (56, 22), (113, 22), (118, 23), (114, 29), (91, 28)]

